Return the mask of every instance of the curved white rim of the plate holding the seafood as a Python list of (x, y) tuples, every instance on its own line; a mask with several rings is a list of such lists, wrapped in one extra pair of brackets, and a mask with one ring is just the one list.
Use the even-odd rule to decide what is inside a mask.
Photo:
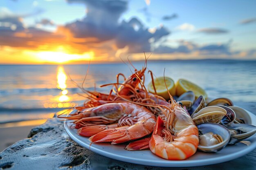
[[(237, 106), (239, 107), (239, 106)], [(70, 113), (74, 112), (73, 109), (72, 111), (70, 111), (67, 115), (69, 115)], [(246, 109), (245, 109), (246, 110)], [(252, 112), (246, 110), (247, 113), (249, 114), (249, 116), (252, 119), (252, 122), (254, 122), (253, 120), (256, 121), (256, 115), (254, 115)], [(248, 146), (247, 148), (240, 150), (238, 152), (233, 152), (229, 155), (224, 155), (222, 157), (211, 157), (209, 159), (211, 159), (211, 161), (209, 161), (209, 159), (199, 159), (199, 160), (180, 160), (180, 161), (171, 161), (171, 160), (166, 160), (163, 158), (158, 157), (157, 155), (155, 155), (156, 158), (158, 158), (159, 160), (157, 160), (158, 163), (161, 163), (161, 165), (159, 166), (159, 164), (154, 165), (152, 161), (150, 160), (146, 160), (146, 159), (138, 159), (138, 158), (132, 158), (132, 157), (128, 157), (128, 156), (124, 156), (124, 155), (119, 155), (119, 154), (115, 154), (114, 152), (107, 152), (106, 150), (100, 150), (99, 148), (95, 148), (94, 145), (102, 145), (102, 144), (92, 144), (92, 145), (88, 145), (86, 143), (84, 143), (81, 139), (77, 138), (78, 137), (82, 137), (80, 135), (77, 135), (75, 133), (74, 135), (74, 131), (72, 128), (70, 128), (70, 126), (68, 126), (68, 124), (70, 124), (67, 120), (64, 121), (64, 127), (65, 130), (67, 132), (67, 134), (70, 136), (70, 138), (72, 140), (74, 140), (76, 143), (78, 143), (80, 146), (87, 148), (88, 150), (91, 150), (92, 152), (95, 152), (99, 155), (102, 155), (104, 157), (108, 157), (111, 159), (115, 159), (118, 161), (123, 161), (123, 162), (128, 162), (128, 163), (134, 163), (134, 164), (139, 164), (139, 165), (144, 165), (144, 166), (155, 166), (155, 167), (193, 167), (193, 166), (206, 166), (206, 165), (212, 165), (212, 164), (216, 164), (216, 163), (222, 163), (222, 162), (226, 162), (226, 161), (230, 161), (239, 157), (242, 157), (246, 154), (248, 154), (249, 152), (252, 152), (254, 149), (256, 149), (256, 142), (252, 143), (250, 146)], [(254, 125), (255, 126), (255, 125)], [(89, 137), (83, 137), (83, 139), (87, 139), (88, 140)], [(250, 138), (255, 138), (255, 134), (250, 137)], [(111, 145), (112, 146), (112, 145)], [(226, 146), (228, 147), (228, 146)], [(125, 152), (130, 152), (128, 150), (124, 150)], [(136, 152), (136, 151), (135, 151)], [(140, 152), (145, 152), (145, 154), (153, 154), (150, 150), (140, 150)], [(214, 153), (209, 153), (209, 154), (214, 154)], [(142, 162), (141, 162), (142, 161)]]

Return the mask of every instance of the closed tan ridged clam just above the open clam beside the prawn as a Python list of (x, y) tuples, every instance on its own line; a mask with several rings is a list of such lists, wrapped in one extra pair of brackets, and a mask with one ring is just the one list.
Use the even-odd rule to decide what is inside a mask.
[(202, 123), (219, 124), (223, 117), (227, 114), (224, 108), (219, 106), (209, 106), (201, 109), (198, 113), (191, 115), (195, 125)]

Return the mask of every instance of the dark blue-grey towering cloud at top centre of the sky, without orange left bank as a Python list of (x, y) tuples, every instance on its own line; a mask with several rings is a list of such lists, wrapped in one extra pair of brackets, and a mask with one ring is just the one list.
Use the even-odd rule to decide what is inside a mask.
[(118, 22), (122, 13), (128, 9), (127, 1), (90, 1), (68, 0), (68, 2), (83, 2), (87, 6), (87, 15), (83, 20), (67, 24), (76, 38), (95, 38), (95, 42), (114, 42), (114, 49), (128, 47), (129, 53), (150, 51), (149, 40), (157, 42), (170, 32), (159, 27), (154, 33), (148, 31), (138, 18)]

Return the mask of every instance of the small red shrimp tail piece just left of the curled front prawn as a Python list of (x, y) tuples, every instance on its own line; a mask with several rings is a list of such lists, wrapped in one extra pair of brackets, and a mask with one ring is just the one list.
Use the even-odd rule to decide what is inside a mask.
[(151, 137), (140, 139), (134, 142), (131, 142), (126, 146), (126, 150), (144, 150), (149, 149), (149, 141)]

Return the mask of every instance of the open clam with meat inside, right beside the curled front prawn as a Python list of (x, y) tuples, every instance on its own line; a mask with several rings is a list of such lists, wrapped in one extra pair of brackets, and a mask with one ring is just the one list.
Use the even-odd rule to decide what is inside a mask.
[(217, 152), (224, 148), (230, 139), (230, 132), (220, 124), (205, 123), (197, 125), (199, 131), (198, 149), (204, 152)]

